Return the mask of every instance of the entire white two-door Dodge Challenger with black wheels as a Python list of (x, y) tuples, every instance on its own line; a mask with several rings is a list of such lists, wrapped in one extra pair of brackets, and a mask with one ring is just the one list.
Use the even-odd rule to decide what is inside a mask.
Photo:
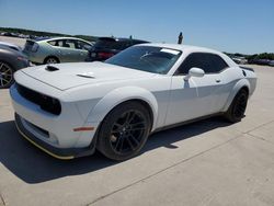
[(222, 53), (142, 44), (105, 62), (19, 70), (10, 94), (18, 130), (45, 152), (126, 160), (153, 131), (213, 115), (241, 121), (255, 84)]

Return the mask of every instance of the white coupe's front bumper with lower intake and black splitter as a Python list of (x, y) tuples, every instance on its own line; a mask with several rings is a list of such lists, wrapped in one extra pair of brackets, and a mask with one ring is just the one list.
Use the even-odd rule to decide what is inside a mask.
[[(36, 87), (39, 87), (37, 81)], [(43, 84), (43, 88), (45, 87)], [(48, 87), (48, 90), (54, 88)], [(15, 85), (10, 88), (10, 95), (16, 113), (18, 129), (33, 145), (58, 159), (93, 153), (99, 123), (85, 123), (73, 102), (64, 103), (61, 114), (53, 115), (23, 98)], [(91, 126), (93, 130), (77, 130)]]

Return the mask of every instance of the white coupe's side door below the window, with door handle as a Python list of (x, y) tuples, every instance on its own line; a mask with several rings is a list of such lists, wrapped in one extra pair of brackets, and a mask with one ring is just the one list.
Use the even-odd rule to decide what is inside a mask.
[(218, 73), (191, 77), (189, 81), (184, 80), (184, 76), (174, 76), (165, 125), (217, 113), (220, 110), (216, 107), (220, 91), (221, 79)]

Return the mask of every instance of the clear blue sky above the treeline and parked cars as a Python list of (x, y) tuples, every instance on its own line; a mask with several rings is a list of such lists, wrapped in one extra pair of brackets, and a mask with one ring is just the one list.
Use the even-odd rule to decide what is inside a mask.
[(0, 27), (274, 53), (274, 0), (0, 0)]

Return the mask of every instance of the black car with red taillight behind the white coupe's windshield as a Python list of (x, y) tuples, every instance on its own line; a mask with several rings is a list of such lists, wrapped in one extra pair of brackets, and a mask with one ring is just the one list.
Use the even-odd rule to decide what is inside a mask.
[(85, 61), (104, 61), (133, 45), (142, 43), (148, 42), (133, 38), (100, 37), (95, 45), (89, 50)]

